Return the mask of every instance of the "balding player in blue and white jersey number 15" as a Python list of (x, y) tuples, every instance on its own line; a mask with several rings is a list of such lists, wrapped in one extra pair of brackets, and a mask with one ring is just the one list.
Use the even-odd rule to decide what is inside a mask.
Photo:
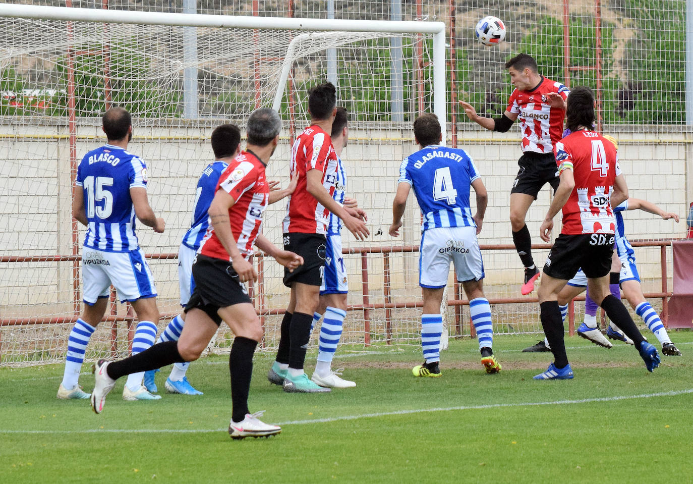
[[(73, 188), (72, 216), (87, 227), (82, 248), (82, 299), (84, 311), (67, 344), (67, 356), (60, 399), (85, 399), (89, 394), (78, 378), (89, 338), (105, 314), (110, 286), (121, 302), (130, 302), (137, 313), (137, 329), (132, 354), (143, 352), (157, 336), (157, 288), (139, 247), (135, 218), (155, 232), (164, 232), (164, 219), (154, 214), (147, 199), (147, 166), (129, 153), (132, 119), (122, 107), (113, 107), (103, 116), (108, 142), (91, 150), (77, 168)], [(142, 386), (142, 373), (128, 377), (123, 388), (125, 400), (159, 399)]]

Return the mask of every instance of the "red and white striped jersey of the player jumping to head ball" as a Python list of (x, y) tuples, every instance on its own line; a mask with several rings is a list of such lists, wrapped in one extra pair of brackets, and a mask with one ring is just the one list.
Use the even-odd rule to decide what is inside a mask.
[(522, 150), (551, 153), (563, 135), (565, 110), (551, 107), (546, 94), (557, 92), (568, 98), (568, 87), (541, 76), (541, 83), (531, 91), (515, 89), (510, 95), (507, 111), (518, 115), (522, 130)]

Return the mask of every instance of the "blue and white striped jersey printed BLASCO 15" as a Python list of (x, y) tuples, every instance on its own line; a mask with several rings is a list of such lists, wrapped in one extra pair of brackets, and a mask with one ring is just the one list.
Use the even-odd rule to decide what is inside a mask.
[(84, 245), (105, 252), (139, 248), (130, 189), (147, 188), (142, 159), (118, 146), (101, 146), (82, 158), (75, 184), (82, 187), (89, 221)]

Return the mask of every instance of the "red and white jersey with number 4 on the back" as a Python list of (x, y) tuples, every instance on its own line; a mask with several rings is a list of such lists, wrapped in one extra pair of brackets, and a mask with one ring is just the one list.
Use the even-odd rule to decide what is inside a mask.
[(611, 193), (618, 166), (616, 148), (595, 131), (573, 132), (556, 143), (559, 173), (571, 169), (575, 187), (563, 205), (561, 234), (613, 234)]

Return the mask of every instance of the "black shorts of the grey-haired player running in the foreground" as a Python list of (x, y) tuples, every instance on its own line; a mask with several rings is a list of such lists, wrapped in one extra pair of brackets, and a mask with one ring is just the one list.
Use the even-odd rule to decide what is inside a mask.
[(198, 254), (193, 263), (193, 279), (195, 290), (185, 306), (186, 313), (193, 308), (202, 309), (220, 325), (219, 308), (243, 302), (252, 304), (245, 284), (240, 282), (229, 261)]

